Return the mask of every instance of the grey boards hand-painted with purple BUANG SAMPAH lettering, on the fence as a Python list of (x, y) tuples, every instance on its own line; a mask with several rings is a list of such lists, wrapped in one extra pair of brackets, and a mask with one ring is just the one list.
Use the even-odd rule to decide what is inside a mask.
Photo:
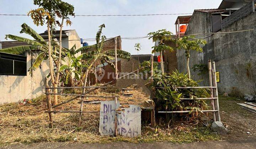
[[(119, 101), (117, 107), (120, 106)], [(113, 136), (115, 129), (115, 101), (101, 101), (99, 132), (101, 136)], [(118, 135), (125, 137), (137, 137), (141, 134), (141, 108), (138, 105), (130, 105), (124, 108), (124, 112), (117, 114)]]

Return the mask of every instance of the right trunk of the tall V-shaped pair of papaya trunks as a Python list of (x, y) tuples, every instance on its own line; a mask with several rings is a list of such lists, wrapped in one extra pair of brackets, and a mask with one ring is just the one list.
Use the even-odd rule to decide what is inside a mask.
[[(59, 38), (59, 59), (57, 61), (57, 74), (56, 74), (56, 78), (55, 78), (55, 87), (58, 87), (59, 84), (59, 69), (60, 69), (60, 63), (61, 63), (61, 56), (62, 56), (62, 27), (63, 27), (63, 22), (64, 22), (64, 17), (62, 17), (62, 23), (60, 25), (60, 38)], [(54, 89), (53, 90), (54, 93), (58, 93), (58, 89)], [(58, 95), (54, 95), (53, 96), (54, 99), (54, 104), (57, 105), (58, 104)]]

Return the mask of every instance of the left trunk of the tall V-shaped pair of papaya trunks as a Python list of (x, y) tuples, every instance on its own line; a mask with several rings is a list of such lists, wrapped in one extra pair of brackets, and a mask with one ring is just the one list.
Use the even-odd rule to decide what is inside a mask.
[[(50, 77), (52, 81), (52, 86), (55, 87), (55, 79), (54, 79), (54, 71), (53, 71), (53, 59), (52, 59), (52, 47), (51, 47), (51, 36), (50, 36), (50, 20), (47, 21), (47, 29), (48, 29), (48, 60), (49, 60), (49, 70)], [(55, 92), (55, 89), (54, 89)], [(55, 100), (54, 103), (56, 104)]]

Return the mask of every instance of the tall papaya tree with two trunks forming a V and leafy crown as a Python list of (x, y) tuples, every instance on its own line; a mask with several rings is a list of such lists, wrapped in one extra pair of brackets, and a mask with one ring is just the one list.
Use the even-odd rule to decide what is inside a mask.
[[(59, 85), (59, 75), (60, 75), (60, 63), (61, 63), (61, 57), (62, 57), (62, 28), (63, 28), (63, 22), (64, 19), (66, 19), (66, 24), (71, 25), (71, 21), (69, 20), (69, 15), (74, 16), (74, 7), (67, 2), (63, 2), (61, 0), (34, 0), (34, 5), (38, 5), (38, 9), (34, 9), (28, 12), (28, 15), (31, 16), (34, 24), (37, 26), (45, 23), (45, 20), (47, 20), (47, 32), (48, 32), (48, 60), (49, 60), (49, 70), (50, 70), (50, 78), (53, 87), (58, 87)], [(58, 20), (56, 20), (56, 16), (61, 18), (62, 21), (59, 23)], [(57, 59), (52, 58), (53, 49), (52, 49), (52, 32), (55, 31), (55, 25), (56, 23), (60, 27), (60, 43), (59, 43), (59, 55)], [(56, 49), (55, 49), (56, 50)], [(55, 68), (53, 65), (53, 62), (56, 66), (56, 74), (54, 72)], [(54, 93), (57, 93), (58, 90), (54, 89)], [(58, 96), (54, 95), (54, 104), (58, 104)]]

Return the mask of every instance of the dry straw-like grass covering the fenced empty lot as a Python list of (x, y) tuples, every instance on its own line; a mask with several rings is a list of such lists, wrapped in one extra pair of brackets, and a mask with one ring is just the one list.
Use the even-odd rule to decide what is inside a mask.
[[(121, 95), (121, 92), (107, 93), (104, 89), (98, 89), (97, 95)], [(139, 104), (142, 107), (150, 106), (145, 100), (148, 96), (140, 91), (130, 91), (132, 97), (121, 96), (121, 104)], [(59, 97), (59, 102), (70, 97)], [(88, 98), (86, 100), (95, 100)], [(107, 100), (98, 98), (97, 100)], [(71, 101), (55, 110), (79, 110), (79, 100)], [(125, 105), (126, 106), (126, 105)], [(99, 114), (83, 114), (82, 127), (77, 127), (78, 114), (58, 113), (53, 114), (54, 128), (48, 128), (48, 115), (46, 111), (46, 96), (42, 95), (31, 104), (21, 105), (9, 103), (0, 105), (0, 145), (14, 143), (34, 142), (83, 142), (83, 143), (108, 143), (108, 142), (193, 142), (219, 139), (215, 133), (203, 125), (189, 126), (177, 124), (170, 129), (153, 129), (148, 126), (142, 127), (142, 136), (135, 138), (125, 137), (102, 137), (98, 132)], [(99, 104), (85, 104), (84, 111), (98, 111)]]

